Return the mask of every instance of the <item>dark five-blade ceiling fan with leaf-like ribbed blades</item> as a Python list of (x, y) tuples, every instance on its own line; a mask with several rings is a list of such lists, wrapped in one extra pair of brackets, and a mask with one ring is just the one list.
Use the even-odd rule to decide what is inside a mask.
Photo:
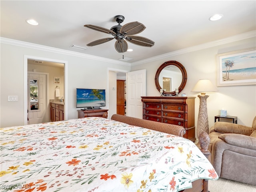
[[(125, 24), (124, 26), (120, 25), (124, 21), (124, 16), (117, 15), (114, 17), (118, 25), (112, 26), (112, 28), (107, 29), (95, 25), (84, 25), (85, 27), (88, 27), (90, 29), (104, 32), (107, 34), (111, 34), (112, 38), (103, 38), (99, 40), (95, 40), (93, 42), (90, 42), (87, 44), (87, 46), (95, 46), (99, 45), (105, 42), (108, 42), (110, 40), (116, 39), (115, 48), (119, 53), (124, 53), (128, 49), (128, 44), (126, 41), (131, 42), (133, 44), (139, 45), (139, 46), (145, 46), (145, 47), (152, 47), (154, 45), (154, 42), (148, 38), (141, 37), (141, 36), (134, 36), (135, 34), (138, 34), (142, 32), (146, 27), (135, 21)], [(126, 41), (125, 41), (126, 40)]]

